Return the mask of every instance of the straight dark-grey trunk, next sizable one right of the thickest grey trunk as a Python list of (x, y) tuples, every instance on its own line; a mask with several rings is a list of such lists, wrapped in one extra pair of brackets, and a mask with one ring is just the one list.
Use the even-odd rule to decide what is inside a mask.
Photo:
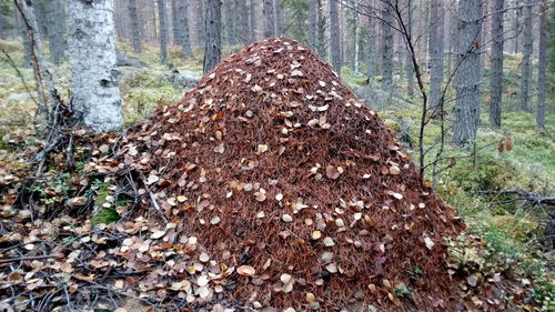
[(505, 0), (494, 0), (492, 18), (492, 70), (490, 74), (490, 123), (501, 127), (501, 108), (503, 97), (503, 7)]

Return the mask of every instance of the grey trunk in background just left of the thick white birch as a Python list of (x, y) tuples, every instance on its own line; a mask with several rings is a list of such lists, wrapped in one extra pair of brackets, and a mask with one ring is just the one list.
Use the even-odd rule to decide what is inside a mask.
[(63, 0), (49, 0), (44, 4), (48, 14), (48, 37), (50, 61), (54, 64), (60, 64), (65, 51), (65, 23), (64, 23), (64, 4)]

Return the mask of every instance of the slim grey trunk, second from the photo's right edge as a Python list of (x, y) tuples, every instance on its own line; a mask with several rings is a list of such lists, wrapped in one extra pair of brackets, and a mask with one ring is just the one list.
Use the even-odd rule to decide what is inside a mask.
[(526, 8), (524, 8), (524, 23), (523, 23), (523, 60), (522, 60), (522, 78), (521, 78), (521, 94), (519, 103), (521, 110), (529, 111), (528, 99), (529, 99), (529, 82), (532, 78), (532, 52), (534, 49), (534, 36), (532, 34), (532, 4), (534, 0), (526, 1)]

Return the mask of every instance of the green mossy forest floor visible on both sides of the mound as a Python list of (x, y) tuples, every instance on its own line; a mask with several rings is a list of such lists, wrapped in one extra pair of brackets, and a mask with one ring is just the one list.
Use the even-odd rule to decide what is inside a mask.
[[(17, 42), (0, 42), (10, 53), (16, 63), (22, 63), (22, 52)], [(129, 46), (119, 49), (127, 54)], [(228, 54), (239, 50), (226, 51)], [(173, 64), (180, 72), (201, 74), (202, 58), (200, 53), (190, 61), (183, 61), (176, 49), (171, 49)], [(175, 87), (169, 78), (169, 69), (159, 64), (155, 47), (145, 47), (140, 57), (144, 67), (122, 67), (120, 71), (121, 92), (125, 124), (131, 125), (150, 117), (155, 110), (174, 103), (182, 98), (184, 89)], [(63, 63), (53, 70), (56, 82), (68, 98), (69, 69)], [(20, 68), (28, 88), (33, 88), (32, 72)], [(486, 73), (487, 77), (487, 73)], [(37, 105), (26, 91), (22, 80), (6, 62), (0, 62), (0, 190), (8, 199), (16, 190), (8, 185), (19, 181), (23, 172), (29, 172), (29, 157), (37, 151), (40, 140), (36, 135), (33, 125)], [(526, 298), (518, 300), (523, 311), (553, 311), (555, 309), (555, 274), (553, 272), (553, 238), (547, 236), (547, 227), (554, 222), (553, 208), (532, 204), (515, 200), (512, 194), (501, 191), (524, 190), (543, 195), (555, 194), (555, 114), (546, 115), (546, 131), (538, 133), (535, 129), (535, 117), (516, 110), (519, 78), (519, 57), (505, 57), (504, 79), (504, 113), (501, 129), (490, 128), (487, 124), (487, 87), (483, 83), (482, 125), (478, 131), (476, 152), (460, 151), (447, 144), (444, 157), (455, 161), (454, 167), (443, 171), (434, 179), (434, 187), (443, 199), (450, 203), (467, 224), (467, 231), (460, 240), (450, 242), (453, 263), (468, 273), (468, 286), (478, 282), (498, 279), (500, 274), (519, 283)], [(355, 90), (364, 92), (366, 79), (363, 74), (355, 74), (349, 68), (342, 70), (342, 79)], [(373, 81), (371, 83), (377, 83)], [(420, 99), (408, 98), (406, 84), (396, 78), (396, 92), (392, 104), (387, 108), (373, 108), (380, 112), (385, 123), (395, 130), (405, 149), (414, 152), (420, 122)], [(532, 88), (535, 90), (535, 88)], [(32, 92), (31, 92), (32, 93)], [(36, 95), (34, 95), (36, 97)], [(535, 99), (532, 99), (535, 103)], [(553, 102), (549, 99), (548, 102)], [(372, 102), (369, 103), (372, 107)], [(452, 107), (453, 103), (447, 103)], [(450, 111), (447, 109), (447, 111)], [(451, 118), (447, 115), (447, 121)], [(441, 132), (437, 120), (432, 121), (425, 132), (426, 144), (433, 144)], [(498, 142), (511, 138), (511, 151), (498, 149)], [(85, 168), (87, 163), (77, 167)], [(72, 199), (72, 177), (68, 173), (49, 168), (49, 182), (36, 185), (34, 192), (38, 202), (46, 205), (62, 204)], [(109, 189), (111, 185), (97, 180), (97, 191)], [(484, 193), (492, 192), (492, 193)], [(118, 207), (129, 204), (117, 203)], [(8, 215), (9, 201), (0, 205), (0, 213)], [(114, 214), (115, 212), (115, 214)], [(118, 209), (101, 211), (88, 218), (100, 223), (118, 220)], [(551, 214), (551, 215), (549, 215)], [(100, 220), (100, 221), (99, 221)], [(552, 224), (553, 227), (553, 224)], [(0, 234), (2, 229), (0, 228)], [(75, 236), (79, 234), (74, 233)], [(64, 238), (65, 240), (70, 240)], [(463, 241), (480, 242), (463, 244)], [(2, 241), (0, 240), (0, 243)], [(0, 249), (0, 255), (6, 250)], [(1, 262), (0, 262), (1, 266)], [(0, 286), (1, 289), (1, 286)], [(0, 291), (1, 292), (1, 291)]]

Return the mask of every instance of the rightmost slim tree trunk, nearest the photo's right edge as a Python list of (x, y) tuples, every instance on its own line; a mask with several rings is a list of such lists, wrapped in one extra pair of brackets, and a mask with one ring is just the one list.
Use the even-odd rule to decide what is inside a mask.
[(549, 3), (547, 0), (542, 1), (539, 17), (539, 47), (538, 47), (538, 64), (537, 64), (537, 112), (536, 112), (536, 129), (545, 130), (545, 73), (547, 70), (547, 17)]

